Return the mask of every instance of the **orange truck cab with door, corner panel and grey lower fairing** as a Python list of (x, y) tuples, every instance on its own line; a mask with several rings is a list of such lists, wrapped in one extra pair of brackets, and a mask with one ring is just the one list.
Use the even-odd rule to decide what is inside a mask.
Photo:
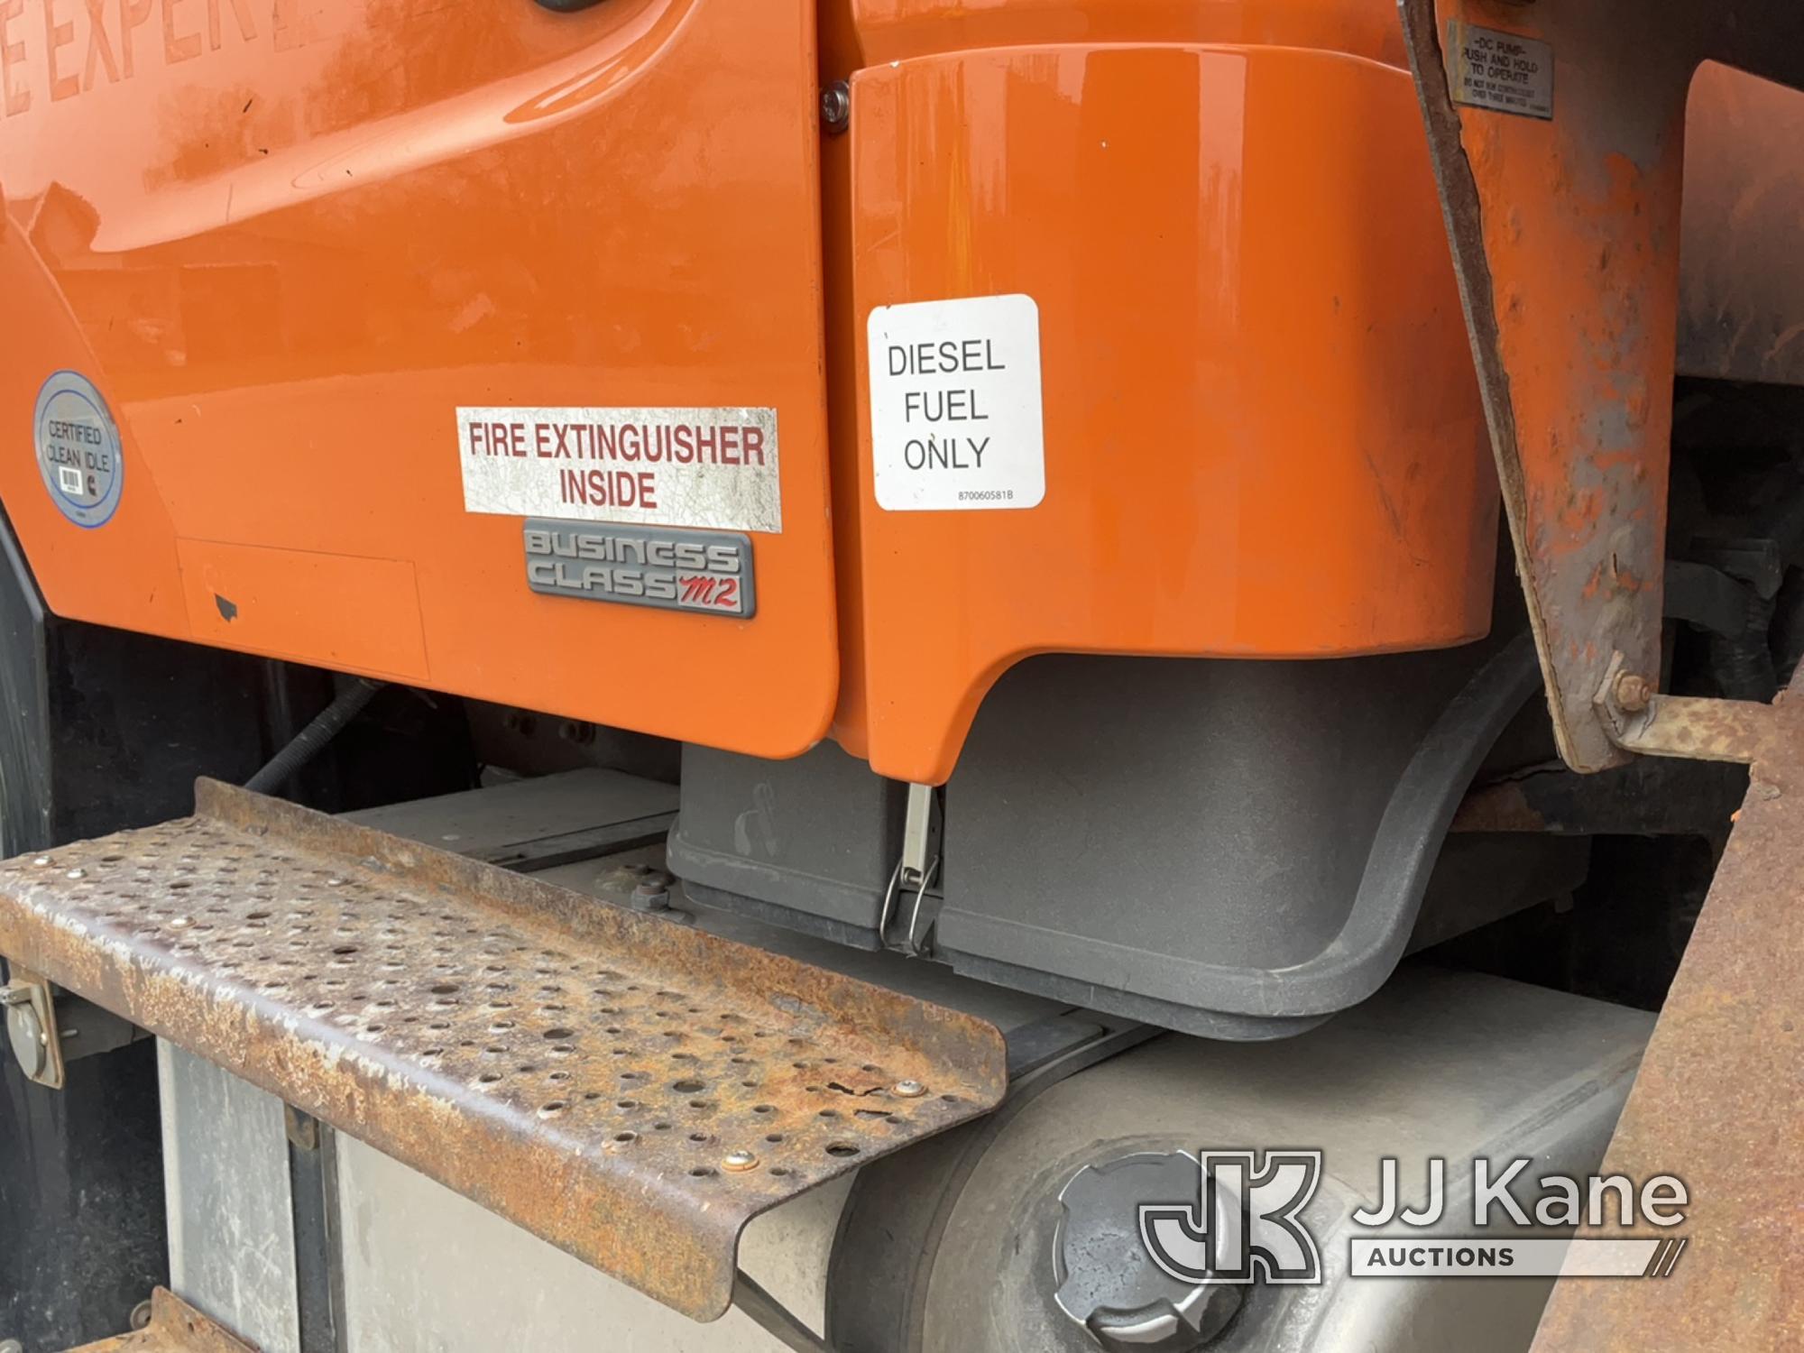
[[(1369, 844), (1384, 796), (1274, 763), (1286, 808), (1230, 810), (1182, 734), (1160, 783), (1102, 729), (1201, 702), (1247, 754), (1277, 720), (1400, 776), (1438, 711), (1391, 673), (1479, 666), (1496, 478), (1382, 0), (60, 2), (0, 43), (0, 417), (34, 451), (0, 494), (56, 615), (680, 741), (678, 868), (805, 929), (877, 943), (943, 886), (943, 958), (1207, 1026), (1394, 962), (1393, 902), (1351, 985), (1229, 994), (1326, 953), (1351, 848), (1304, 870), (1310, 925), (1126, 978), (1133, 925), (1026, 916), (1122, 862), (1055, 884), (1005, 826), (1061, 758), (1109, 812), (1167, 805), (1155, 911), (1214, 832)], [(1057, 653), (1117, 657), (1021, 666)], [(740, 850), (756, 785), (844, 859)], [(943, 879), (891, 886), (911, 812)], [(1266, 906), (1205, 882), (1203, 929), (1229, 893)]]

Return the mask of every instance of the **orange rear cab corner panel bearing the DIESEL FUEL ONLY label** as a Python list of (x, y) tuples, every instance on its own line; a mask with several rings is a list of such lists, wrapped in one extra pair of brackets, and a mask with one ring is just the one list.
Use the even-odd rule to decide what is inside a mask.
[[(1346, 27), (1380, 49), (1376, 18)], [(1497, 489), (1407, 72), (1054, 41), (884, 61), (851, 90), (873, 769), (943, 781), (989, 686), (1037, 651), (1328, 657), (1486, 631)], [(1003, 296), (1037, 310), (1043, 494), (924, 489), (934, 507), (895, 511), (871, 384), (907, 357), (866, 319)], [(904, 373), (895, 408), (920, 390), (929, 419), (996, 420), (909, 429), (1007, 435), (960, 393), (983, 379)], [(916, 480), (934, 473), (958, 471)]]

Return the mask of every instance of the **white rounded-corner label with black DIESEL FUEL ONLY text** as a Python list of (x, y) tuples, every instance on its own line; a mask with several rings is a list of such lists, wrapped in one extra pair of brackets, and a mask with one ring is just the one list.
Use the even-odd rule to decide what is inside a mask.
[(1039, 505), (1046, 437), (1032, 296), (880, 305), (866, 336), (879, 507)]

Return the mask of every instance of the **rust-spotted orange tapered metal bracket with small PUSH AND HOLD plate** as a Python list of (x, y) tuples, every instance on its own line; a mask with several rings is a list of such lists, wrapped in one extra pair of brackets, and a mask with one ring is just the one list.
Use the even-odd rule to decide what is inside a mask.
[[(1593, 705), (1606, 669), (1660, 673), (1687, 92), (1705, 60), (1804, 83), (1804, 5), (1402, 14), (1553, 731), (1569, 767), (1602, 770), (1629, 756)], [(1532, 43), (1551, 119), (1458, 105), (1449, 25)]]

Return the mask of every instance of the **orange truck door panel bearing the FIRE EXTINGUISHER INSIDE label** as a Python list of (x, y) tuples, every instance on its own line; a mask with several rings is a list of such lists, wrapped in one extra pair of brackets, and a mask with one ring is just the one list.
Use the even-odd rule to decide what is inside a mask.
[[(806, 749), (837, 691), (814, 85), (810, 0), (0, 0), (0, 496), (51, 608)], [(40, 476), (56, 372), (119, 429), (105, 525)], [(465, 511), (458, 406), (772, 410), (756, 612), (530, 592), (521, 514)]]

